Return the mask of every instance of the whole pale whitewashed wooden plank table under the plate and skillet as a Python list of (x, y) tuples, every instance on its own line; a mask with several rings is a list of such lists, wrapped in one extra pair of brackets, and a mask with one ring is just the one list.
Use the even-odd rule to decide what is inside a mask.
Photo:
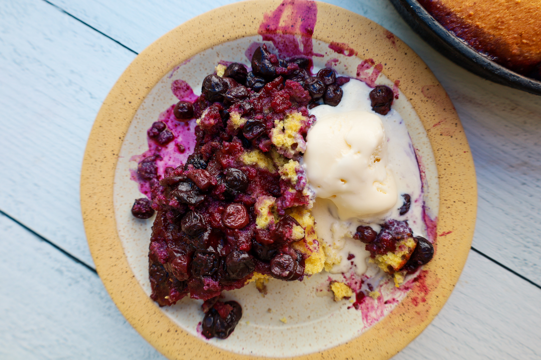
[[(410, 45), (441, 81), (476, 163), (473, 249), (447, 304), (394, 359), (541, 359), (541, 97), (439, 55), (388, 0), (333, 0)], [(228, 0), (0, 2), (0, 359), (163, 359), (94, 271), (84, 147), (136, 53)]]

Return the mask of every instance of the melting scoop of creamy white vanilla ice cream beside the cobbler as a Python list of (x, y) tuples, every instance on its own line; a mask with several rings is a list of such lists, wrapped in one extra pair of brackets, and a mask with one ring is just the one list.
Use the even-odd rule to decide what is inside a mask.
[(354, 110), (318, 118), (304, 161), (316, 196), (332, 200), (341, 220), (386, 212), (397, 202), (385, 129), (375, 114)]

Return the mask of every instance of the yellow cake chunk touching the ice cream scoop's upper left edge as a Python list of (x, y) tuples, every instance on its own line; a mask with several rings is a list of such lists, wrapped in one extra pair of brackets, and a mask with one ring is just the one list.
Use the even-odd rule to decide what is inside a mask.
[[(300, 112), (287, 114), (282, 121), (274, 121), (271, 141), (278, 147), (280, 153), (291, 157), (295, 151), (305, 152), (306, 142), (302, 135), (299, 134), (299, 130), (305, 121), (306, 117), (302, 116)], [(295, 148), (292, 147), (293, 144), (296, 144)]]

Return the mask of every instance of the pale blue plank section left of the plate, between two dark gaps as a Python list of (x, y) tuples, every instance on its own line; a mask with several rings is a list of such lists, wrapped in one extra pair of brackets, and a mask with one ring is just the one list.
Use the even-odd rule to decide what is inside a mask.
[(101, 103), (134, 54), (36, 0), (0, 7), (0, 209), (92, 264), (80, 168)]

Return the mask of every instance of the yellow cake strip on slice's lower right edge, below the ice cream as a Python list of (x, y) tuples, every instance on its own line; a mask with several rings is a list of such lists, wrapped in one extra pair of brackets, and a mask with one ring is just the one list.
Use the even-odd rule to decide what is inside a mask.
[(325, 264), (325, 253), (320, 246), (318, 236), (315, 234), (315, 220), (312, 214), (302, 206), (291, 208), (289, 213), (300, 226), (304, 227), (304, 240), (293, 243), (293, 248), (301, 253), (307, 254), (305, 260), (305, 274), (313, 275), (320, 273)]

